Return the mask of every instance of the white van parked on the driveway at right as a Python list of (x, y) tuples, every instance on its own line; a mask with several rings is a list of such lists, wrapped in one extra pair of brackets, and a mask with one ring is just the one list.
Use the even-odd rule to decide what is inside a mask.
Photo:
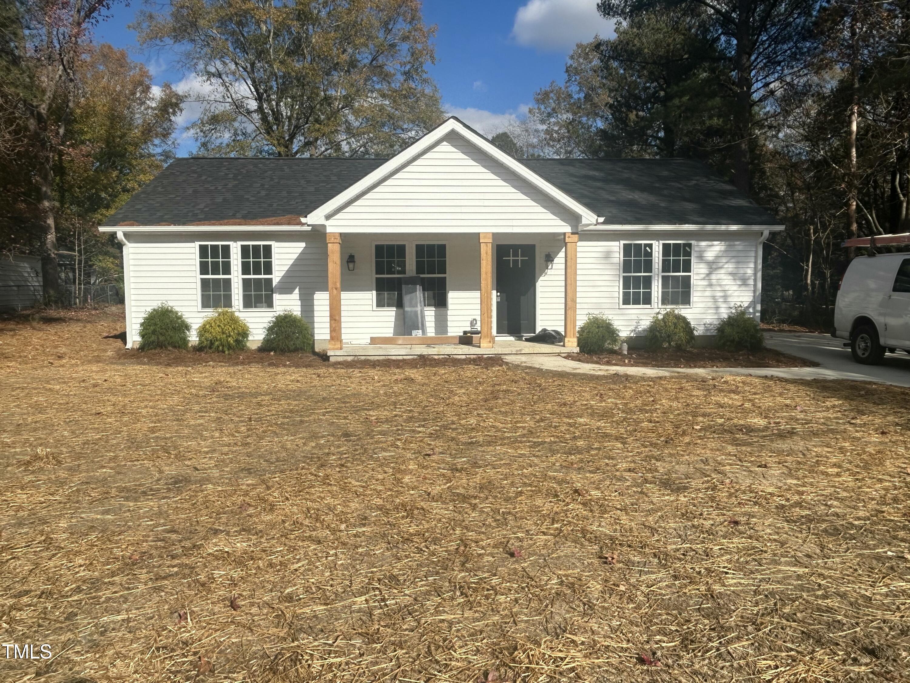
[(850, 340), (854, 361), (866, 365), (882, 362), (885, 351), (910, 353), (910, 254), (850, 261), (837, 291), (831, 334)]

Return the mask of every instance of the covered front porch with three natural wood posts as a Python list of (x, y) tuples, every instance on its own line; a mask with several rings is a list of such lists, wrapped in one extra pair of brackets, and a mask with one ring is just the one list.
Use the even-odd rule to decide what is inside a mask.
[[(557, 353), (577, 346), (576, 232), (327, 232), (326, 243), (330, 357)], [(439, 250), (431, 269), (430, 249)], [(528, 277), (517, 297), (508, 285), (511, 273), (521, 272)], [(400, 286), (396, 303), (393, 285), (399, 276), (428, 274), (423, 334), (432, 339), (420, 341), (402, 336), (409, 332)], [(458, 339), (475, 326), (474, 339)], [(564, 344), (520, 341), (541, 328), (562, 331)]]

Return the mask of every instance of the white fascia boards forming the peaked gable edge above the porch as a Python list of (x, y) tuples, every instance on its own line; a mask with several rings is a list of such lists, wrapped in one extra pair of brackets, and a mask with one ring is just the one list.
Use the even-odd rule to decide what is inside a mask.
[[(450, 118), (439, 127), (431, 130), (423, 138), (420, 138), (420, 140), (409, 148), (402, 150), (397, 156), (390, 158), (386, 163), (374, 170), (368, 176), (359, 179), (358, 182), (351, 185), (344, 192), (329, 199), (329, 201), (319, 207), (319, 209), (310, 212), (308, 216), (310, 225), (326, 226), (327, 221), (332, 214), (343, 209), (354, 199), (358, 199), (361, 195), (366, 194), (370, 189), (376, 187), (383, 180), (393, 175), (399, 168), (403, 168), (415, 158), (420, 157), (421, 154), (436, 145), (442, 138), (445, 138), (451, 132), (458, 133), (462, 138), (470, 142), (474, 147), (480, 149), (480, 151), (488, 157), (495, 159), (501, 163), (502, 166), (509, 168), (509, 170), (519, 178), (526, 180), (555, 202), (561, 204), (566, 209), (569, 209), (572, 213), (577, 214), (580, 226), (591, 225), (597, 222), (596, 212), (591, 211), (591, 209), (588, 209), (583, 204), (572, 199), (561, 189), (551, 185), (534, 173), (531, 168), (526, 167), (520, 161), (517, 161), (503, 152), (500, 148), (496, 147), (490, 140), (483, 138), (467, 127), (464, 127), (461, 125), (460, 121)], [(349, 232), (349, 230), (346, 229), (345, 232)]]

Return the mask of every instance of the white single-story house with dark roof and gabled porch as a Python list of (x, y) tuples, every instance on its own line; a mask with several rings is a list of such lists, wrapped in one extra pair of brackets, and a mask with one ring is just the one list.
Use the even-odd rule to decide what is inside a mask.
[(759, 314), (762, 243), (783, 229), (686, 159), (515, 159), (450, 118), (396, 157), (179, 158), (106, 221), (124, 245), (127, 345), (162, 301), (193, 325), (230, 307), (261, 339), (297, 311), (329, 352), (480, 321), (480, 347), (605, 313), (641, 334), (662, 308), (696, 333)]

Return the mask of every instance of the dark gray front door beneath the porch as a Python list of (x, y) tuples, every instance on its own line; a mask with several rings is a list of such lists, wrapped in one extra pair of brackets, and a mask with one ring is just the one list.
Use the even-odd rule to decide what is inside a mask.
[(533, 334), (536, 318), (533, 244), (496, 245), (496, 333)]

